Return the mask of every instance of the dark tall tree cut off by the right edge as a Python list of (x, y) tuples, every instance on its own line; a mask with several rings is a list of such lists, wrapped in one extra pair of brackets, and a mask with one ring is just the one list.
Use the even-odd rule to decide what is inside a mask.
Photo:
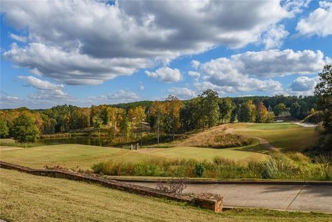
[(323, 111), (324, 127), (332, 131), (332, 66), (324, 66), (319, 73), (320, 82), (315, 86), (315, 95), (319, 98), (318, 109)]

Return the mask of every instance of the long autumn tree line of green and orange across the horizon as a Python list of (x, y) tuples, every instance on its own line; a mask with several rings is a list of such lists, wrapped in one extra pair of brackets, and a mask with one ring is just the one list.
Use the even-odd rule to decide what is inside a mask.
[[(156, 142), (160, 142), (160, 135), (174, 138), (176, 133), (210, 128), (225, 122), (273, 122), (275, 116), (284, 111), (303, 119), (317, 109), (316, 102), (315, 96), (219, 98), (216, 91), (208, 89), (185, 101), (169, 95), (165, 101), (102, 104), (90, 108), (67, 104), (45, 110), (23, 107), (0, 111), (0, 136), (33, 142), (42, 134), (107, 129), (109, 137), (120, 143), (141, 142), (143, 131), (146, 131), (143, 128), (148, 126), (156, 133)], [(20, 136), (17, 135), (19, 132)], [(30, 134), (35, 136), (25, 136)]]

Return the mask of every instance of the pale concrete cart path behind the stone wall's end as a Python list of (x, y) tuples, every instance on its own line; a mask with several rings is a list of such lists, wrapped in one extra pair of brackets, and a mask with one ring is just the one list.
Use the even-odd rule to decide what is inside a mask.
[[(156, 183), (133, 183), (156, 187)], [(187, 185), (185, 192), (221, 194), (226, 207), (332, 213), (332, 185)]]

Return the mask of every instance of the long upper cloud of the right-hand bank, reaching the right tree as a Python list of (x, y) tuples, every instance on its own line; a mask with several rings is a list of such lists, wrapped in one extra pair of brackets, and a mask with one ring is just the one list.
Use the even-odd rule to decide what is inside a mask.
[(331, 61), (320, 51), (265, 50), (221, 57), (201, 64), (201, 71), (209, 75), (252, 75), (255, 77), (280, 77), (308, 75), (319, 72)]

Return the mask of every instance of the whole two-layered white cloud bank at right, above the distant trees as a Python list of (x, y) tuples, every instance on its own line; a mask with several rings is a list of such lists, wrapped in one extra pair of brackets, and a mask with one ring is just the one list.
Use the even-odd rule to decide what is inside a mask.
[(266, 50), (212, 59), (199, 66), (203, 82), (194, 87), (220, 93), (243, 91), (284, 91), (271, 77), (319, 72), (329, 58), (321, 51)]

